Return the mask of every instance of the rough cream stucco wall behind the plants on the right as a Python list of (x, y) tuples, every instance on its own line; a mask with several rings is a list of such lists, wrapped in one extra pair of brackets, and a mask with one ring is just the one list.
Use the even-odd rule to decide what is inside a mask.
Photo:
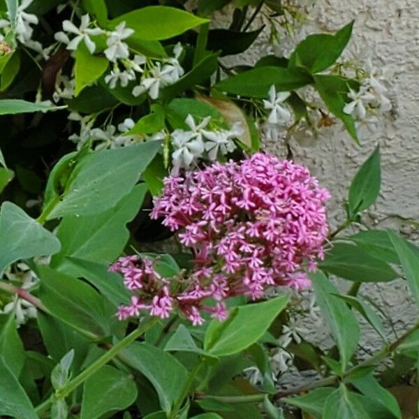
[[(332, 192), (329, 214), (333, 228), (344, 220), (343, 203), (348, 184), (362, 161), (379, 143), (383, 177), (381, 195), (365, 214), (365, 219), (378, 228), (393, 228), (418, 241), (418, 228), (406, 219), (419, 221), (419, 1), (311, 0), (306, 3), (309, 3), (311, 22), (303, 27), (304, 33), (335, 31), (355, 19), (347, 53), (366, 48), (374, 66), (385, 69), (393, 110), (392, 115), (382, 118), (370, 130), (360, 130), (362, 147), (355, 146), (337, 122), (332, 128), (323, 130), (310, 147), (301, 147), (291, 141), (294, 158), (309, 166)], [(288, 44), (289, 41), (284, 42), (285, 46)], [(260, 51), (266, 50), (266, 45), (266, 38), (261, 39), (235, 60), (252, 63)], [(286, 155), (283, 134), (276, 132), (265, 139), (265, 148), (280, 156)], [(386, 322), (391, 339), (395, 335), (393, 328), (396, 333), (400, 332), (418, 317), (416, 304), (402, 280), (362, 286), (360, 295), (372, 297), (392, 318), (392, 327)], [(310, 328), (310, 322), (306, 325)], [(316, 330), (316, 336), (311, 328), (310, 340), (325, 343), (330, 339), (324, 327), (313, 324), (311, 327)], [(379, 347), (381, 341), (375, 332), (365, 327), (361, 345), (366, 352), (361, 349), (360, 356)], [(294, 385), (301, 379), (302, 376), (296, 373), (286, 374), (279, 385)]]

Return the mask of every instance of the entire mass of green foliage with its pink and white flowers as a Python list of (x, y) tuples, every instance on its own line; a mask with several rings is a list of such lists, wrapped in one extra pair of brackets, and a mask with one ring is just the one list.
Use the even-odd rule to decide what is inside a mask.
[[(297, 138), (333, 116), (360, 142), (358, 122), (390, 110), (377, 71), (341, 59), (353, 22), (253, 68), (228, 66), (220, 57), (269, 29), (274, 40), (275, 22), (302, 10), (186, 6), (0, 3), (0, 415), (401, 418), (385, 387), (416, 379), (419, 325), (392, 340), (357, 295), (402, 277), (419, 300), (418, 247), (362, 225), (379, 196), (379, 147), (329, 235), (328, 192), (260, 153), (260, 131)], [(224, 7), (230, 25), (214, 29)], [(159, 252), (175, 232), (179, 247)], [(307, 302), (331, 344), (295, 325)], [(383, 341), (367, 358), (361, 317)], [(387, 358), (395, 368), (378, 372)], [(277, 390), (291, 364), (318, 379)]]

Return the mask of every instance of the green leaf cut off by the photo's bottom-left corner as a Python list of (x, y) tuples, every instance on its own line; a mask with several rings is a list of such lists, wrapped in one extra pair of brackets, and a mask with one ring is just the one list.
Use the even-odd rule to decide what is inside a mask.
[(0, 415), (38, 419), (34, 406), (2, 356), (0, 356)]

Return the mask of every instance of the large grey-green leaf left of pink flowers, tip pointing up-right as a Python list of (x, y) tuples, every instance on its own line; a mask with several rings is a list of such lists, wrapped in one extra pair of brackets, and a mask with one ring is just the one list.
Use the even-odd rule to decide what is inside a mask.
[(150, 141), (88, 154), (71, 172), (68, 190), (49, 219), (98, 214), (113, 207), (133, 189), (159, 148), (159, 142)]

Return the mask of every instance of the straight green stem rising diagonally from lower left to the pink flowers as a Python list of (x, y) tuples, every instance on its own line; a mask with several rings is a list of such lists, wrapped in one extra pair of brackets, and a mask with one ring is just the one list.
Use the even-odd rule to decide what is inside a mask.
[(112, 346), (110, 350), (104, 353), (101, 358), (98, 358), (95, 362), (93, 362), (89, 367), (84, 369), (78, 376), (75, 376), (71, 381), (68, 381), (65, 385), (61, 388), (57, 389), (54, 395), (50, 396), (45, 402), (41, 403), (39, 406), (36, 407), (35, 411), (38, 415), (45, 413), (47, 409), (50, 408), (54, 398), (56, 399), (64, 399), (67, 397), (73, 390), (78, 388), (79, 385), (84, 383), (92, 374), (94, 374), (98, 369), (103, 367), (104, 365), (108, 364), (113, 358), (115, 358), (119, 352), (122, 351), (126, 346), (132, 344), (138, 337), (143, 335), (147, 330), (152, 328), (154, 324), (159, 321), (158, 318), (149, 319), (149, 321), (143, 323), (138, 329), (135, 329), (129, 335), (124, 337), (121, 341), (119, 341), (115, 346)]

